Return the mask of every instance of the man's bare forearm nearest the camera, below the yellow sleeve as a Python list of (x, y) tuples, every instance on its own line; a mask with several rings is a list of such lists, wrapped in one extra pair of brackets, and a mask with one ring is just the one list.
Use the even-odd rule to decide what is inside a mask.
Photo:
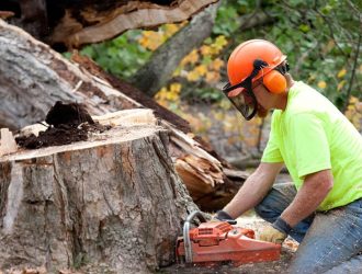
[(330, 170), (308, 174), (291, 205), (282, 213), (282, 219), (294, 227), (317, 209), (332, 186), (333, 175)]

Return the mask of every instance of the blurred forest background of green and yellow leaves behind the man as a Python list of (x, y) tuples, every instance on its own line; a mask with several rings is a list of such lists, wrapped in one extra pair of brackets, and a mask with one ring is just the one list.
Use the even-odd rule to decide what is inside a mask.
[[(316, 88), (362, 132), (361, 0), (224, 0), (213, 9), (203, 11), (212, 20), (199, 14), (200, 22), (195, 16), (190, 22), (127, 31), (80, 53), (189, 121), (193, 133), (231, 163), (258, 159), (269, 133), (270, 115), (246, 122), (220, 92), (229, 54), (250, 38), (276, 44), (287, 55), (294, 79)], [(197, 33), (203, 24), (211, 24), (204, 32), (207, 37)], [(151, 84), (145, 67), (167, 50), (168, 60), (179, 61), (162, 77), (156, 76), (162, 81)]]

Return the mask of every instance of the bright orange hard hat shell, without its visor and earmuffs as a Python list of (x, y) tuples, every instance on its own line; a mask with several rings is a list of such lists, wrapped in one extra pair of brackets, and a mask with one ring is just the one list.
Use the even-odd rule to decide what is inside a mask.
[[(252, 78), (252, 82), (260, 77), (268, 75), (275, 67), (281, 65), (286, 56), (271, 42), (264, 39), (250, 39), (234, 49), (227, 61), (227, 75), (231, 85), (242, 82), (253, 71), (254, 60), (263, 60), (268, 64), (259, 73)], [(241, 90), (236, 90), (237, 95)], [(230, 92), (233, 93), (233, 92)]]

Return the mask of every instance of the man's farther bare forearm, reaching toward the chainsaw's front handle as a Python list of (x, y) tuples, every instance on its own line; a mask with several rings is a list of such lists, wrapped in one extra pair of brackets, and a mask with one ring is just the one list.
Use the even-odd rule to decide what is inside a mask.
[(282, 168), (283, 163), (260, 163), (223, 210), (230, 217), (237, 218), (253, 208), (272, 187)]

